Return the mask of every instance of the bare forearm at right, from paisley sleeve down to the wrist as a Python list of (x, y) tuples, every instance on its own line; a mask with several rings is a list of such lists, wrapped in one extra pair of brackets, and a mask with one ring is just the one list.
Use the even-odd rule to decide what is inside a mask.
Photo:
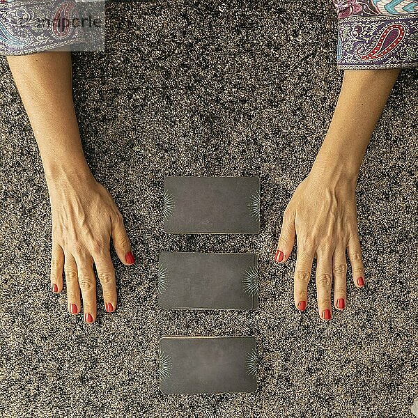
[(371, 134), (399, 70), (346, 70), (327, 135), (312, 170), (357, 180)]

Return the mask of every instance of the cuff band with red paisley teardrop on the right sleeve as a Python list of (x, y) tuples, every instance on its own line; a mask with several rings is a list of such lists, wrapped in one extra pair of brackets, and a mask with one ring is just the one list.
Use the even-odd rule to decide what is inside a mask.
[(418, 67), (418, 14), (340, 19), (337, 66), (341, 70)]

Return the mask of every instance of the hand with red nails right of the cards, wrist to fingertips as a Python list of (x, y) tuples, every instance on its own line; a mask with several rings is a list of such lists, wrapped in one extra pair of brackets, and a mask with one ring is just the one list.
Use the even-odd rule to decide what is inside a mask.
[(353, 270), (354, 284), (364, 286), (364, 265), (357, 233), (355, 180), (329, 173), (311, 171), (297, 187), (284, 211), (281, 233), (274, 260), (284, 263), (297, 238), (294, 274), (295, 306), (304, 311), (307, 287), (314, 258), (318, 313), (331, 319), (331, 286), (334, 307), (346, 307), (346, 251)]

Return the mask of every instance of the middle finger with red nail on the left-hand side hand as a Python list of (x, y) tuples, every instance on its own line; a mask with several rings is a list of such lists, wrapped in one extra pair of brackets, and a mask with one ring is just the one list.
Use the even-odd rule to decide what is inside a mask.
[(89, 256), (76, 257), (78, 281), (83, 297), (84, 321), (93, 323), (96, 318), (96, 292), (93, 259)]

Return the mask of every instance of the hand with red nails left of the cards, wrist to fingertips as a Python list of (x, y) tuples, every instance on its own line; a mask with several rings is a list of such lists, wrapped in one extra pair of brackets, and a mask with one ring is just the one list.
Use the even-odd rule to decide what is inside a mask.
[(110, 239), (125, 265), (134, 263), (121, 212), (107, 189), (91, 174), (82, 178), (61, 176), (48, 181), (52, 210), (51, 288), (63, 290), (67, 284), (68, 311), (93, 323), (97, 315), (96, 280), (102, 286), (107, 312), (116, 309), (116, 279), (110, 256)]

